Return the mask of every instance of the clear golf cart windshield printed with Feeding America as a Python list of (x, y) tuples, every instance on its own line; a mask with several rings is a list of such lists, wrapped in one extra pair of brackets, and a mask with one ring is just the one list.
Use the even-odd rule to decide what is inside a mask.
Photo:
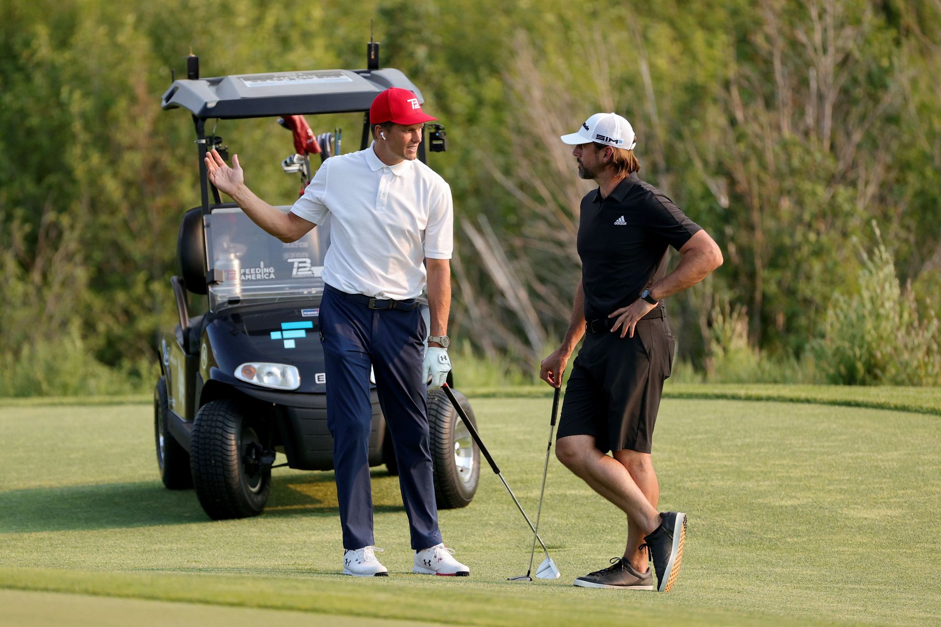
[[(288, 212), (290, 207), (279, 207)], [(320, 300), (329, 220), (292, 243), (268, 235), (238, 208), (216, 208), (210, 227), (209, 267), (216, 283), (209, 286), (213, 311), (232, 305), (286, 300)]]

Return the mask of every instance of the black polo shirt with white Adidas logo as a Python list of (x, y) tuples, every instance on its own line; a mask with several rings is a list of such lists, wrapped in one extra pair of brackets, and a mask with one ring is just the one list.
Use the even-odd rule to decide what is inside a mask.
[(582, 198), (578, 249), (585, 320), (628, 306), (660, 277), (666, 247), (677, 250), (702, 230), (663, 193), (631, 174), (606, 198)]

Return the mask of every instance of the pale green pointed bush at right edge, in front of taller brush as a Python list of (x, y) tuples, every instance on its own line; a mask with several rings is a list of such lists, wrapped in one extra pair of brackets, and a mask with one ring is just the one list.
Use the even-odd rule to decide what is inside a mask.
[(860, 252), (859, 292), (834, 298), (827, 310), (826, 335), (816, 345), (827, 381), (941, 384), (941, 327), (933, 311), (919, 315), (912, 290), (901, 289), (878, 228), (875, 249)]

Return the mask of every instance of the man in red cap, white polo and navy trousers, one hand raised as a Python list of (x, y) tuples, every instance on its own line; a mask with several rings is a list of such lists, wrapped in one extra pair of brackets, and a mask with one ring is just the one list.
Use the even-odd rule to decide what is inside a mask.
[[(237, 155), (232, 167), (215, 150), (206, 155), (213, 184), (283, 242), (295, 242), (332, 216), (320, 334), (344, 574), (389, 573), (373, 545), (372, 366), (399, 468), (413, 572), (470, 575), (441, 541), (428, 443), (428, 382), (431, 389), (440, 387), (451, 370), (446, 349), (454, 237), (451, 188), (417, 160), (424, 123), (434, 119), (411, 91), (386, 89), (370, 107), (372, 146), (327, 159), (288, 213), (252, 194)], [(427, 352), (415, 300), (425, 285), (431, 313)]]

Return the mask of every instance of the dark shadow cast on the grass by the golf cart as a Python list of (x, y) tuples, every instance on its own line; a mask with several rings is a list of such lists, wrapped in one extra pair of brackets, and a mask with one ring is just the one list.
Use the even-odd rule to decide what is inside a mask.
[[(374, 470), (376, 512), (404, 511), (398, 481)], [(332, 472), (280, 476), (275, 471), (263, 517), (339, 516)], [(250, 519), (248, 519), (250, 520)], [(159, 481), (29, 488), (0, 493), (0, 533), (78, 531), (211, 523), (192, 490)]]

